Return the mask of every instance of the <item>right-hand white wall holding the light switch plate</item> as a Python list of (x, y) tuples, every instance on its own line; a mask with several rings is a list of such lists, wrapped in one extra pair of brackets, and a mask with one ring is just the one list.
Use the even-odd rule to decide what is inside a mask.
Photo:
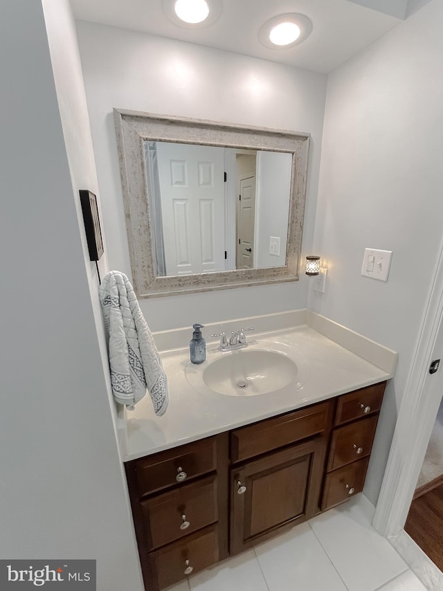
[[(377, 499), (443, 232), (443, 3), (433, 0), (328, 78), (309, 307), (399, 352), (365, 493)], [(393, 251), (387, 283), (365, 247)]]

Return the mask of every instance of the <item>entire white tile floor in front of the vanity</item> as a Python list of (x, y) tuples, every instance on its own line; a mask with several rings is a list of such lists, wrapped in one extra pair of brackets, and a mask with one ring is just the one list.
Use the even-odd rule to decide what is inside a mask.
[(426, 591), (359, 495), (168, 591)]

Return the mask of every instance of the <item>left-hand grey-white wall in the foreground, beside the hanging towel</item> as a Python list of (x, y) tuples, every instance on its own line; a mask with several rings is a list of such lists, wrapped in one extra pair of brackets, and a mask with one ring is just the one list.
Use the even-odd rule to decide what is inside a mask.
[(139, 591), (75, 204), (96, 187), (75, 29), (45, 10), (63, 128), (42, 3), (0, 5), (0, 556), (96, 558), (98, 589)]

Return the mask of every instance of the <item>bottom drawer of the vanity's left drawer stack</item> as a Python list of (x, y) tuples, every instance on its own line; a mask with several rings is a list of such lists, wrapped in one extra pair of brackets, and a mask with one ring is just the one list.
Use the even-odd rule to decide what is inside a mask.
[(188, 574), (199, 572), (218, 560), (217, 525), (150, 554), (150, 561), (157, 574), (160, 589), (174, 585), (186, 579)]

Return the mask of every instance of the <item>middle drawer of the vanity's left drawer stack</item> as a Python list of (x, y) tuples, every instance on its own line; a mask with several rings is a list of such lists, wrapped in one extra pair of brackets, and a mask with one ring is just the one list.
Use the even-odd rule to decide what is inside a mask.
[(217, 521), (216, 477), (186, 484), (141, 502), (149, 549), (158, 548)]

